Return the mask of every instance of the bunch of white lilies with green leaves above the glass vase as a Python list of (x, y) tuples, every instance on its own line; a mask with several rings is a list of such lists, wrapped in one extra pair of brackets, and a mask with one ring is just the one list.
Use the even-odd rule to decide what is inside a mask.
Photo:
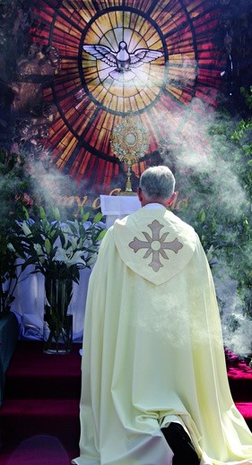
[(89, 213), (77, 220), (62, 220), (60, 211), (52, 207), (31, 218), (25, 207), (24, 220), (17, 224), (15, 245), (8, 248), (22, 259), (22, 271), (33, 265), (33, 272), (41, 272), (50, 280), (74, 280), (78, 283), (79, 271), (90, 268), (98, 254), (100, 240), (106, 233), (99, 213), (90, 220)]

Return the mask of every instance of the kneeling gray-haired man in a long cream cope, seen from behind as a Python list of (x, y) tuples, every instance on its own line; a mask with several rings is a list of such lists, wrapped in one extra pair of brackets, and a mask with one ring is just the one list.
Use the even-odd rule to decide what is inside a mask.
[(230, 395), (213, 278), (168, 210), (175, 179), (143, 172), (142, 208), (109, 228), (89, 283), (78, 465), (252, 463)]

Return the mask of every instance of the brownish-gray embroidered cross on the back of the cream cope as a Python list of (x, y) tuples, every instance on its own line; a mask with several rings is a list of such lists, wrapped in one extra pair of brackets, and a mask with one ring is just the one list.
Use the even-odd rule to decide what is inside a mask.
[(157, 272), (163, 266), (161, 263), (161, 256), (165, 260), (169, 260), (165, 250), (172, 250), (175, 254), (178, 254), (178, 250), (183, 247), (183, 244), (178, 241), (177, 237), (171, 242), (165, 242), (169, 232), (161, 236), (161, 228), (164, 228), (164, 225), (158, 220), (153, 220), (152, 223), (147, 226), (151, 229), (152, 236), (148, 232), (142, 231), (146, 241), (134, 237), (134, 240), (129, 243), (129, 246), (134, 250), (135, 254), (141, 249), (147, 249), (143, 258), (148, 258), (152, 254), (152, 262), (149, 263), (148, 266), (151, 266), (152, 270)]

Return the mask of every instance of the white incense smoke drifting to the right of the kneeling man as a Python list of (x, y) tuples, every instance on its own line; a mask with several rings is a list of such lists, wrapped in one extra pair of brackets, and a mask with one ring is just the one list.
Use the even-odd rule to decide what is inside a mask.
[(175, 168), (178, 191), (188, 196), (187, 211), (178, 214), (196, 228), (203, 242), (205, 228), (203, 245), (212, 267), (225, 345), (241, 355), (251, 354), (252, 320), (244, 304), (249, 291), (238, 293), (234, 273), (240, 263), (252, 268), (251, 245), (237, 243), (243, 220), (251, 214), (239, 175), (240, 148), (230, 137), (238, 121), (221, 116), (199, 99), (173, 118), (176, 130), (169, 127), (168, 150), (163, 146), (162, 153), (168, 166)]

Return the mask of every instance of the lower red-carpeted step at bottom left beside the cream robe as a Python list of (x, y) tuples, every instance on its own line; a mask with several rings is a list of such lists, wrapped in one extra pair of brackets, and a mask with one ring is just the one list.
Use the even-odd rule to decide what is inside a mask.
[(4, 399), (0, 409), (1, 456), (2, 452), (14, 450), (38, 435), (56, 438), (65, 450), (78, 453), (79, 402), (79, 399)]

